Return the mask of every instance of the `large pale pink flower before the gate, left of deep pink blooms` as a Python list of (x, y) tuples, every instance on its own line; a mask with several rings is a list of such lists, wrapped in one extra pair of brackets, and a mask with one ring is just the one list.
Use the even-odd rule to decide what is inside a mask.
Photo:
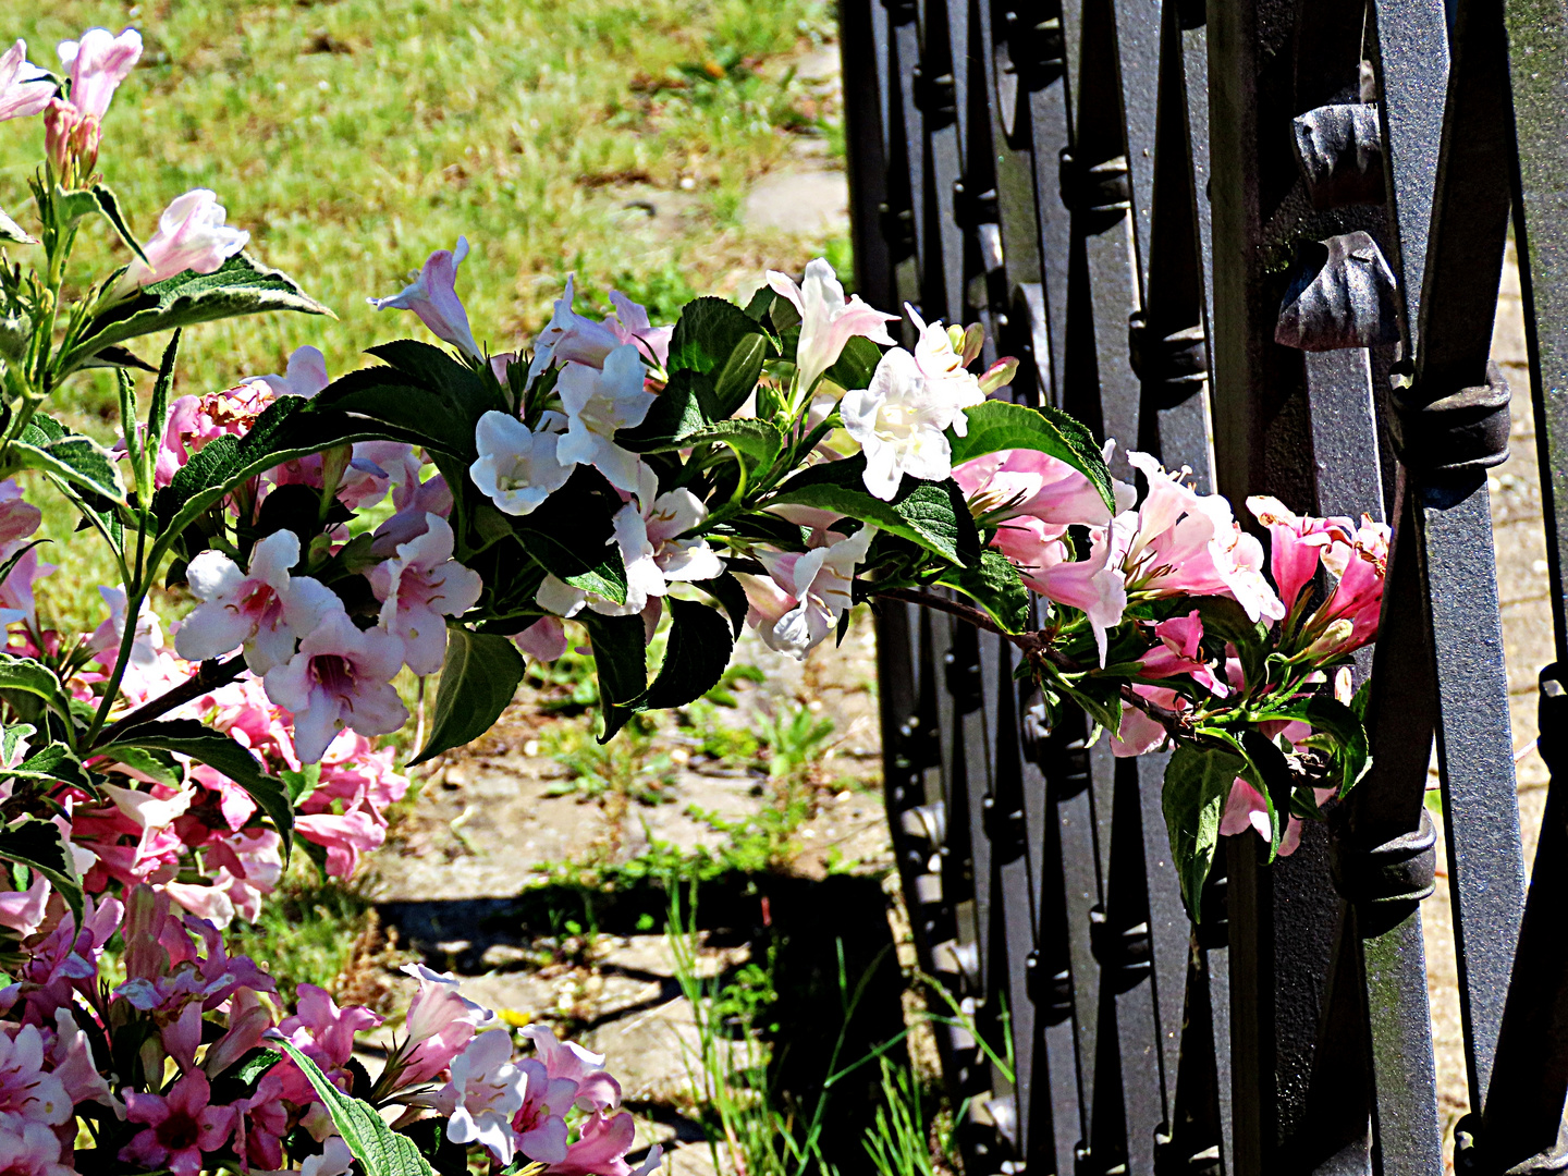
[(1262, 575), (1262, 544), (1242, 532), (1218, 494), (1200, 495), (1148, 453), (1129, 453), (1149, 492), (1137, 511), (1118, 514), (1113, 547), (1129, 594), (1229, 596), (1258, 621), (1284, 616), (1284, 605)]

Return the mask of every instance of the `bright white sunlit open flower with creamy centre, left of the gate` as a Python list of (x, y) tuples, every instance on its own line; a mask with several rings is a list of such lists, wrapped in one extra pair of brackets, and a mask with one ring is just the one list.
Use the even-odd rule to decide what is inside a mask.
[(941, 481), (953, 472), (952, 448), (942, 431), (964, 436), (969, 422), (949, 387), (920, 375), (903, 348), (877, 364), (869, 389), (845, 392), (839, 405), (844, 428), (866, 453), (866, 489), (892, 500), (905, 474)]

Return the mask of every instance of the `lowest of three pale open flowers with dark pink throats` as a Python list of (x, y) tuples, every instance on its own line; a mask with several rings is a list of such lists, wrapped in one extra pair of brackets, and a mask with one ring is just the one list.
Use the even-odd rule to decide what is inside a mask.
[(408, 721), (392, 688), (403, 665), (403, 643), (379, 630), (361, 632), (337, 610), (299, 641), (285, 665), (267, 671), (267, 696), (295, 717), (295, 750), (315, 764), (345, 728), (386, 735)]

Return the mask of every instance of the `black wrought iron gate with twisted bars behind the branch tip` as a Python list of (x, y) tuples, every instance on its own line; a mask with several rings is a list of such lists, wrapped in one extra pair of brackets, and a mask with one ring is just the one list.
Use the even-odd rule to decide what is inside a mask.
[(1562, 0), (842, 0), (842, 49), (869, 301), (986, 323), (1019, 400), (1200, 489), (1396, 527), (1359, 666), (1372, 775), (1292, 858), (1229, 839), (1198, 928), (1163, 756), (1043, 729), (1008, 646), (883, 605), (920, 961), (1014, 1058), (1008, 1083), (941, 1041), (969, 1176), (1441, 1173), (1433, 745), (1479, 1109), (1457, 1163), (1568, 1168), (1568, 676), (1541, 671), (1555, 779), (1526, 895), (1485, 477), (1512, 216), (1568, 665)]

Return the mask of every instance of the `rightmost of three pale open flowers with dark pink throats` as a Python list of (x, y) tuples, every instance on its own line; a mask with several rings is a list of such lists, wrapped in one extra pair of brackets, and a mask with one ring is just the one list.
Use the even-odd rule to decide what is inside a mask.
[(461, 616), (480, 599), (480, 574), (452, 558), (452, 524), (425, 516), (425, 533), (400, 543), (397, 554), (370, 569), (381, 601), (381, 626), (403, 640), (403, 659), (416, 674), (434, 674), (447, 652), (445, 616)]

